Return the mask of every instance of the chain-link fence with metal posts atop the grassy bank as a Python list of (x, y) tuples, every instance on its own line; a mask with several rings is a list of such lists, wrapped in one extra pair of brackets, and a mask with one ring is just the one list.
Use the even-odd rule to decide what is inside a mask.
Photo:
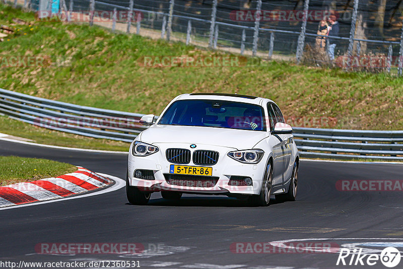
[[(54, 4), (24, 1), (34, 11)], [(87, 14), (90, 24), (109, 23), (113, 30), (120, 25), (119, 30), (128, 33), (134, 30), (233, 53), (402, 75), (401, 0), (54, 1), (72, 21), (77, 20), (75, 14)], [(331, 16), (338, 27), (329, 25)], [(331, 38), (330, 26), (339, 28)], [(333, 48), (334, 58), (329, 57)]]

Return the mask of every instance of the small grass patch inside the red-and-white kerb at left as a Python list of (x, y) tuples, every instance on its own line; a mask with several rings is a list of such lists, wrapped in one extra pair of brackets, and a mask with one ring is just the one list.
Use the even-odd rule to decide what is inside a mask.
[(45, 159), (0, 156), (0, 186), (56, 177), (77, 171), (77, 167)]

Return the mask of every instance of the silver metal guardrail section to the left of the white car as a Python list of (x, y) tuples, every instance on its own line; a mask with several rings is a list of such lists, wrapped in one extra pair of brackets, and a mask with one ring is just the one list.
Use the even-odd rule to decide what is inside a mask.
[(132, 142), (143, 114), (74, 105), (0, 89), (0, 112), (13, 119), (92, 138)]

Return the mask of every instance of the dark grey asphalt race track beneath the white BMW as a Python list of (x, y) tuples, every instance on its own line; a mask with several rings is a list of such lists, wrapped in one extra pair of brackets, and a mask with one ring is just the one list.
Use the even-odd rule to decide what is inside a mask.
[[(125, 177), (126, 156), (0, 141), (0, 155), (40, 157)], [(0, 261), (139, 261), (142, 268), (340, 268), (338, 253), (234, 253), (236, 242), (306, 239), (403, 246), (402, 191), (339, 191), (343, 179), (403, 179), (403, 166), (301, 161), (297, 201), (246, 207), (226, 196), (154, 193), (147, 206), (127, 203), (124, 188), (56, 203), (0, 211)], [(339, 239), (338, 239), (339, 238)], [(390, 239), (388, 239), (390, 238)], [(308, 240), (309, 239), (309, 240)], [(48, 255), (38, 243), (135, 242), (141, 254)], [(397, 242), (397, 243), (396, 243)], [(396, 245), (397, 244), (397, 245)], [(291, 251), (292, 252), (292, 251)], [(294, 251), (295, 252), (295, 251)], [(359, 266), (361, 268), (368, 266)], [(403, 260), (397, 267), (403, 267)], [(371, 268), (386, 268), (378, 262)]]

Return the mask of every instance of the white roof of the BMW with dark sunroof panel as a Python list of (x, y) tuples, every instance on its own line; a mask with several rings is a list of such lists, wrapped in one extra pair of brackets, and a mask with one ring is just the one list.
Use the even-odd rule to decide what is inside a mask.
[(242, 94), (231, 94), (231, 93), (190, 93), (179, 95), (176, 100), (191, 100), (191, 99), (213, 99), (213, 100), (224, 100), (232, 102), (242, 102), (249, 104), (261, 105), (264, 100), (273, 102), (270, 99), (242, 95)]

